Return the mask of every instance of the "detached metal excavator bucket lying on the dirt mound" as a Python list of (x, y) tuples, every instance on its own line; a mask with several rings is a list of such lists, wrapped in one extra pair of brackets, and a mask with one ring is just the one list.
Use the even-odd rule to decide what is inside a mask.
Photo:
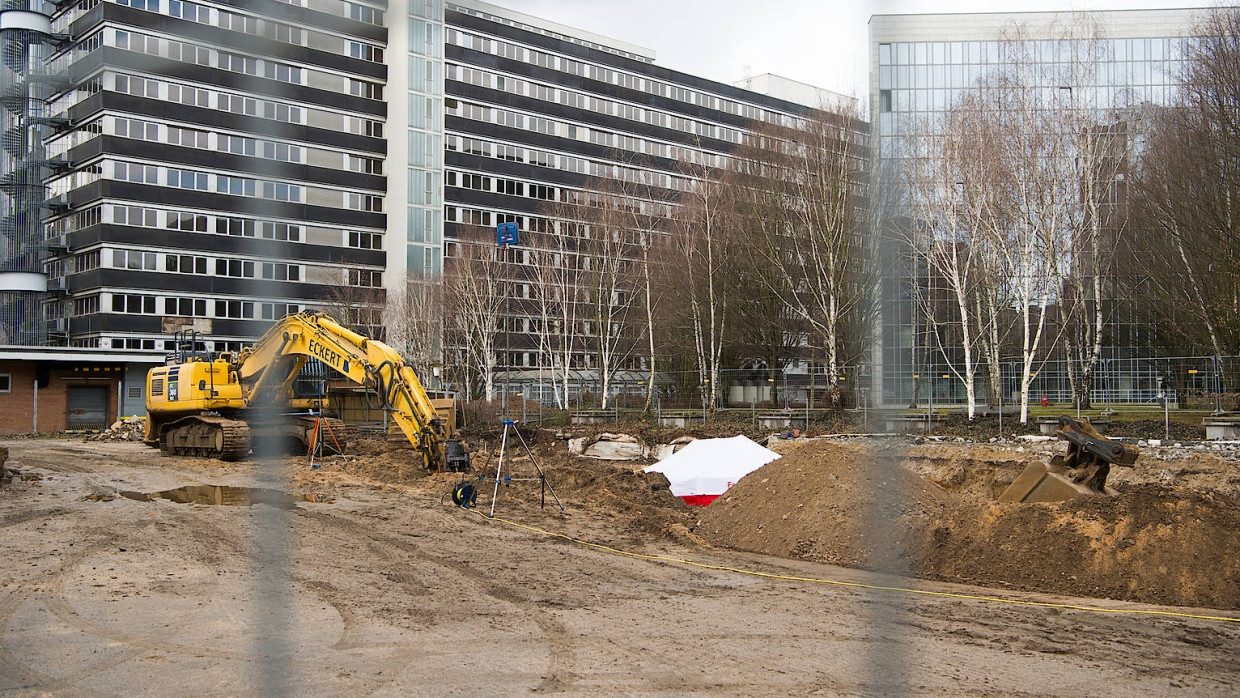
[(1061, 502), (1073, 497), (1107, 495), (1106, 475), (1111, 465), (1137, 462), (1136, 446), (1120, 444), (1099, 434), (1086, 420), (1059, 418), (1055, 436), (1068, 441), (1068, 454), (1050, 465), (1040, 462), (1024, 472), (999, 495), (1001, 502)]

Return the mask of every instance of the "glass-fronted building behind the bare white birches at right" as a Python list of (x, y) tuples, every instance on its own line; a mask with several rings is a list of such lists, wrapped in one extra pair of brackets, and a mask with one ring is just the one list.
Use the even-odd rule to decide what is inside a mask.
[[(1016, 43), (1034, 68), (1032, 82), (1049, 91), (1084, 89), (1076, 104), (1099, 110), (1167, 104), (1199, 17), (1195, 10), (875, 15), (869, 25), (875, 171), (895, 177), (911, 152), (910, 139), (934, 138), (934, 126), (928, 130), (926, 124), (935, 124), (963, 91), (1002, 66)], [(1091, 66), (1085, 84), (1074, 88), (1064, 76), (1069, 63), (1086, 53)], [(929, 388), (921, 389), (921, 399), (928, 392), (947, 402), (959, 399), (962, 395), (952, 384), (959, 382), (940, 376), (952, 357), (928, 346), (924, 314), (916, 307), (913, 289), (928, 283), (926, 270), (916, 269), (915, 255), (906, 253), (890, 260), (894, 272), (880, 291), (875, 397), (892, 407), (908, 405), (918, 389), (914, 376), (924, 373)], [(1110, 356), (1140, 351), (1141, 329), (1122, 311), (1110, 314), (1109, 324)]]

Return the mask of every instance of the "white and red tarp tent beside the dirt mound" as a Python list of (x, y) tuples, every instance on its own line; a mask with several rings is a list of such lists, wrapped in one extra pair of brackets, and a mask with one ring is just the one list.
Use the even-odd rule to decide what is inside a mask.
[(672, 493), (686, 503), (704, 507), (738, 480), (780, 457), (745, 436), (698, 439), (644, 472), (662, 472)]

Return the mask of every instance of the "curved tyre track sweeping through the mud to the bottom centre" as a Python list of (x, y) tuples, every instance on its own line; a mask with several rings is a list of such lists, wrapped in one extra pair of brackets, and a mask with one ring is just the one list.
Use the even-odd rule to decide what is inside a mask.
[[(539, 606), (538, 601), (523, 598), (518, 591), (501, 583), (492, 581), (486, 574), (467, 563), (429, 553), (408, 539), (382, 533), (363, 522), (351, 521), (347, 515), (305, 511), (305, 516), (331, 528), (346, 531), (350, 539), (370, 541), (403, 555), (446, 568), (477, 586), (485, 595), (511, 605), (529, 617), (538, 626), (547, 646), (547, 671), (542, 682), (532, 687), (532, 693), (572, 691), (577, 677), (577, 650), (569, 641), (569, 631), (552, 612)], [(382, 558), (378, 558), (382, 559)], [(331, 603), (330, 600), (327, 600)], [(332, 606), (339, 606), (332, 603)], [(342, 617), (343, 614), (342, 614)], [(347, 626), (346, 626), (347, 627)], [(347, 632), (347, 631), (346, 631)]]

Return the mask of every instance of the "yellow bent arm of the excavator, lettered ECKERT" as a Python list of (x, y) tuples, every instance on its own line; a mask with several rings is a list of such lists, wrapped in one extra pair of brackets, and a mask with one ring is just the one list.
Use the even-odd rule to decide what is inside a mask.
[(289, 315), (237, 357), (237, 376), (248, 404), (286, 394), (308, 358), (374, 392), (424, 465), (444, 465), (445, 428), (413, 368), (383, 342), (363, 337), (321, 312)]

